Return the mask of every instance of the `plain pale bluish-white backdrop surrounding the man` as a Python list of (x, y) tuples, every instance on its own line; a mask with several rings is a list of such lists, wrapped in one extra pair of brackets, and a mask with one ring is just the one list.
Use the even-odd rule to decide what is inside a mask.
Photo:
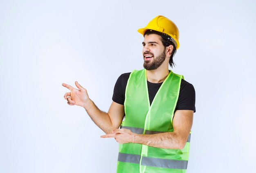
[(1, 0), (0, 172), (114, 173), (118, 144), (63, 99), (79, 81), (108, 111), (120, 74), (143, 68), (138, 28), (175, 22), (173, 72), (196, 90), (187, 173), (254, 172), (254, 0)]

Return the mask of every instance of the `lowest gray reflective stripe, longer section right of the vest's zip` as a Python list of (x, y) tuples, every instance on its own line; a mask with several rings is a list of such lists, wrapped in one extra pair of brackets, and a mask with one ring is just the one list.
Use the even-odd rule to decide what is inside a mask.
[(142, 157), (141, 165), (170, 168), (170, 169), (186, 169), (188, 165), (188, 161)]

